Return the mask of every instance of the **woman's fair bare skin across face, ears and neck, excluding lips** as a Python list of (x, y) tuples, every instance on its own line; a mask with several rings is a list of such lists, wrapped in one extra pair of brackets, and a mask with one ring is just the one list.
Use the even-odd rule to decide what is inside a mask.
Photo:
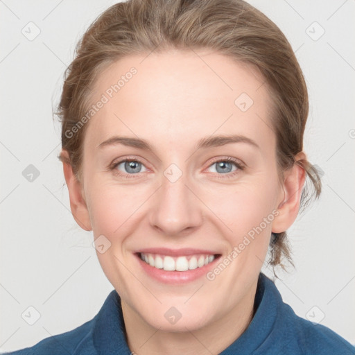
[[(80, 182), (63, 163), (71, 211), (83, 229), (111, 243), (97, 256), (121, 297), (132, 352), (216, 354), (252, 320), (270, 234), (284, 232), (297, 217), (304, 170), (294, 166), (279, 181), (270, 92), (248, 65), (202, 51), (132, 55), (101, 73), (93, 103), (131, 67), (137, 74), (88, 123)], [(246, 112), (234, 104), (243, 92), (254, 101)], [(232, 134), (259, 148), (233, 143), (196, 150), (203, 137)], [(154, 153), (121, 144), (98, 148), (114, 135), (146, 139)], [(232, 162), (230, 172), (220, 172), (216, 162), (226, 157), (245, 168)], [(108, 168), (128, 158), (143, 162), (140, 172), (129, 173), (124, 163)], [(173, 183), (164, 175), (171, 164), (182, 171)], [(272, 222), (213, 281), (157, 282), (133, 254), (139, 248), (208, 248), (223, 259), (272, 211), (278, 211)], [(182, 314), (175, 324), (164, 317), (171, 306)]]

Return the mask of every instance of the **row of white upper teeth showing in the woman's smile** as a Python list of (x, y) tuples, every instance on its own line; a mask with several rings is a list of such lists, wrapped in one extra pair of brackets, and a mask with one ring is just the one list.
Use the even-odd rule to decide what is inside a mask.
[(146, 261), (153, 268), (164, 269), (166, 271), (187, 271), (202, 268), (214, 261), (214, 255), (192, 255), (189, 257), (170, 257), (157, 254), (141, 253), (141, 259)]

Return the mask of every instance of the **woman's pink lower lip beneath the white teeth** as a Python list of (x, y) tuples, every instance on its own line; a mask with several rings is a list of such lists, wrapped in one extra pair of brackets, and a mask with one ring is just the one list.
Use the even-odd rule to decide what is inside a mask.
[(196, 268), (193, 270), (186, 271), (165, 271), (164, 269), (158, 269), (154, 266), (150, 266), (146, 261), (143, 261), (139, 254), (136, 254), (136, 257), (143, 268), (143, 270), (153, 279), (156, 279), (159, 282), (163, 282), (164, 284), (184, 284), (187, 282), (192, 282), (196, 279), (200, 279), (214, 268), (214, 265), (220, 256), (215, 257), (214, 261), (211, 263), (207, 263), (207, 265), (202, 266), (202, 268)]

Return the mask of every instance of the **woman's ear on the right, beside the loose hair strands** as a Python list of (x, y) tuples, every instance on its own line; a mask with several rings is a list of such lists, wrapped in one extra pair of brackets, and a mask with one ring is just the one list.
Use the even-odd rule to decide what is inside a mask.
[[(306, 160), (306, 155), (303, 152), (295, 156), (296, 161), (301, 159)], [(272, 232), (285, 232), (295, 222), (300, 209), (300, 200), (305, 181), (306, 171), (304, 171), (302, 166), (294, 164), (292, 168), (284, 172), (284, 183), (282, 184), (284, 191), (280, 194), (277, 207), (279, 214), (272, 222)]]

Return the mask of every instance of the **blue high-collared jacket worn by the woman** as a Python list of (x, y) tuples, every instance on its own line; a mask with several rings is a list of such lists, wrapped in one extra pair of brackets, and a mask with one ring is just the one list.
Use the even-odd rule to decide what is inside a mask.
[[(263, 273), (259, 275), (255, 306), (257, 311), (249, 327), (220, 355), (355, 354), (355, 347), (334, 331), (298, 317)], [(121, 300), (113, 290), (92, 320), (33, 347), (6, 354), (131, 355), (124, 333)]]

